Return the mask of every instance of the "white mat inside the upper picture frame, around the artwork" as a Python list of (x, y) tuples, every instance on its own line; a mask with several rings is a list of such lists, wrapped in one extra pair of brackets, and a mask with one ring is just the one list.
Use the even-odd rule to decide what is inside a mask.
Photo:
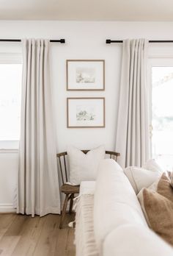
[[(67, 61), (67, 89), (68, 90), (103, 90), (104, 63), (100, 61)], [(76, 71), (79, 68), (94, 70), (95, 82), (76, 82)]]

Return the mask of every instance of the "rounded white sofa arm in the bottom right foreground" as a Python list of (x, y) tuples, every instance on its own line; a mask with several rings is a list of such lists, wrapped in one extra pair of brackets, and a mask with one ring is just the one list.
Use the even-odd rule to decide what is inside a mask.
[(125, 224), (108, 233), (103, 256), (172, 256), (173, 249), (155, 232), (136, 224)]

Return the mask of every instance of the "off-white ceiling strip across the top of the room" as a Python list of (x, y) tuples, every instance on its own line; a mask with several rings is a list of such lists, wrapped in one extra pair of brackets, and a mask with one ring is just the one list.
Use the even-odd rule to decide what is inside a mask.
[(0, 0), (0, 20), (173, 21), (173, 1)]

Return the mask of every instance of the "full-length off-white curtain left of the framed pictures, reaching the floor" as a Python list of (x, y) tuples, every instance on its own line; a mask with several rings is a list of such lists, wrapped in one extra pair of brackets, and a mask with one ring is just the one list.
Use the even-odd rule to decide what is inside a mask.
[(49, 41), (23, 40), (17, 213), (60, 213)]

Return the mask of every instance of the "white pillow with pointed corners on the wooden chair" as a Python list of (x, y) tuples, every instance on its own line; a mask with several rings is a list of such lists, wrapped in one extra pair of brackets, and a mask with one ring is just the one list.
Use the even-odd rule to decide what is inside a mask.
[(70, 163), (70, 183), (80, 185), (84, 180), (95, 180), (100, 160), (105, 157), (104, 146), (90, 150), (87, 154), (73, 146), (68, 146), (67, 155)]

